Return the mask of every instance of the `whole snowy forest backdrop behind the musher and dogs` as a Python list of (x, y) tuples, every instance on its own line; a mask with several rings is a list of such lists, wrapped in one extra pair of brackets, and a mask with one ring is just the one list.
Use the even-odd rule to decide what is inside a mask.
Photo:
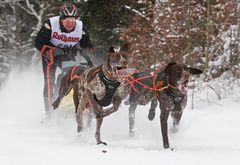
[[(39, 61), (35, 36), (46, 19), (59, 14), (64, 2), (69, 1), (0, 2), (0, 87), (12, 66), (24, 68)], [(228, 75), (224, 86), (239, 80), (240, 0), (74, 2), (94, 47), (102, 50), (97, 56), (111, 45), (129, 43), (129, 62), (139, 70), (177, 61), (203, 69), (203, 82), (222, 75)], [(211, 89), (221, 97), (216, 86)]]

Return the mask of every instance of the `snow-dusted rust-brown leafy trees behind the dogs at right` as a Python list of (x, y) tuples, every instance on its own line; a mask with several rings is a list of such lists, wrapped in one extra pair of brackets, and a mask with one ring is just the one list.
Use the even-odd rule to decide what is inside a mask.
[(129, 7), (136, 14), (122, 33), (132, 44), (137, 68), (174, 60), (204, 69), (211, 79), (238, 66), (236, 1), (141, 0), (137, 5)]

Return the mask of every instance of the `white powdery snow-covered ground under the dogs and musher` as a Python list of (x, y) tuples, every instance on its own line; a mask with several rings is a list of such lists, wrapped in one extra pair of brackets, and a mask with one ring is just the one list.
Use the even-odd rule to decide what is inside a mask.
[(122, 105), (106, 118), (102, 139), (107, 146), (95, 144), (94, 124), (78, 135), (72, 111), (58, 110), (51, 121), (42, 122), (42, 79), (40, 65), (28, 71), (14, 71), (0, 91), (1, 165), (235, 165), (240, 162), (239, 92), (215, 104), (196, 100), (194, 110), (188, 106), (179, 131), (169, 132), (170, 144), (175, 148), (170, 151), (162, 147), (159, 110), (155, 120), (148, 121), (148, 106), (141, 106), (136, 112), (135, 138), (128, 137), (127, 106)]

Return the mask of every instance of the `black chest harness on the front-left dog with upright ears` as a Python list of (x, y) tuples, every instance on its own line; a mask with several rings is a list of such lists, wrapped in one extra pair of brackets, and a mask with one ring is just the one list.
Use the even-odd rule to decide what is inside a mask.
[(97, 103), (101, 106), (109, 106), (112, 102), (112, 97), (114, 93), (116, 92), (118, 86), (121, 84), (119, 81), (113, 81), (109, 80), (103, 73), (102, 67), (100, 67), (100, 70), (98, 72), (98, 76), (100, 80), (103, 82), (106, 88), (106, 94), (105, 96), (101, 99), (98, 100), (96, 95), (94, 94), (94, 99), (97, 101)]

